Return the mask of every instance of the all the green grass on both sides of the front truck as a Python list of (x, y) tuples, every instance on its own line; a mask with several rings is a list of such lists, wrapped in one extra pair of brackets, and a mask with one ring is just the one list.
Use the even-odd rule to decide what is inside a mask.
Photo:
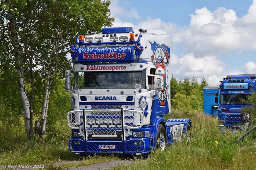
[[(166, 150), (154, 150), (147, 159), (134, 158), (127, 166), (117, 166), (114, 170), (254, 170), (256, 167), (256, 132), (252, 131), (234, 143), (244, 132), (231, 133), (220, 131), (216, 117), (200, 115), (196, 111), (181, 113), (173, 110), (168, 118), (190, 118), (193, 127), (189, 140), (173, 143)], [(58, 130), (59, 129), (59, 130)], [(57, 127), (51, 137), (26, 141), (23, 129), (1, 130), (0, 164), (47, 164), (45, 169), (64, 170), (111, 160), (120, 160), (118, 156), (79, 157), (68, 151), (70, 138), (68, 128)], [(54, 135), (54, 133), (56, 135)], [(58, 134), (58, 135), (57, 135)], [(69, 160), (72, 164), (54, 166), (54, 162)]]

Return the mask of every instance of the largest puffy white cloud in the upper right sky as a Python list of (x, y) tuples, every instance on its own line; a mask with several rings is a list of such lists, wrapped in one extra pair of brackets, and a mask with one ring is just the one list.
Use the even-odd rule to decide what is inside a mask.
[(242, 18), (238, 18), (234, 10), (223, 7), (214, 12), (205, 7), (196, 9), (190, 17), (188, 29), (181, 30), (182, 37), (177, 38), (182, 39), (188, 53), (202, 57), (231, 54), (235, 50), (256, 50), (256, 0)]

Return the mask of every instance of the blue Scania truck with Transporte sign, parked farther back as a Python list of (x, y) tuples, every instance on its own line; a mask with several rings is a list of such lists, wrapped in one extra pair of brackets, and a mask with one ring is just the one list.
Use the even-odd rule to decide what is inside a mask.
[(246, 100), (253, 91), (256, 91), (255, 78), (256, 74), (227, 75), (220, 82), (220, 90), (215, 97), (220, 128), (226, 127), (232, 130), (241, 128), (243, 125), (241, 110), (242, 107), (249, 106)]

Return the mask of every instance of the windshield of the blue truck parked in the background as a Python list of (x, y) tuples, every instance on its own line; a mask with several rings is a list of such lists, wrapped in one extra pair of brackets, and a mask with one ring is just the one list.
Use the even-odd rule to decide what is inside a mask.
[(251, 94), (221, 94), (220, 104), (246, 104)]

